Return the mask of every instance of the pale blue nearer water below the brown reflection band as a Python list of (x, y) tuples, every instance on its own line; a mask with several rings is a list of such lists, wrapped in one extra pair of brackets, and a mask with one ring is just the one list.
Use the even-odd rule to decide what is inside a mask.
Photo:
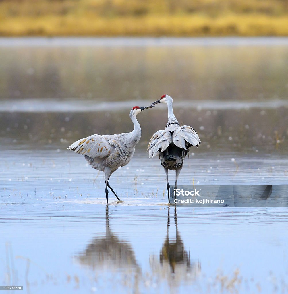
[[(110, 192), (105, 208), (103, 173), (81, 156), (5, 153), (4, 284), (24, 284), (26, 293), (218, 293), (222, 284), (224, 293), (282, 293), (287, 287), (286, 208), (177, 207), (175, 217), (159, 161), (142, 152), (111, 177), (123, 202)], [(194, 155), (179, 183), (286, 183), (287, 161), (276, 161), (244, 157), (236, 167), (231, 156)]]

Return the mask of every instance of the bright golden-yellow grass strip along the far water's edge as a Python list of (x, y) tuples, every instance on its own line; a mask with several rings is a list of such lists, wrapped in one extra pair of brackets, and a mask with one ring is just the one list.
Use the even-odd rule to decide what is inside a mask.
[(227, 37), (288, 36), (288, 14), (115, 16), (6, 16), (1, 37)]

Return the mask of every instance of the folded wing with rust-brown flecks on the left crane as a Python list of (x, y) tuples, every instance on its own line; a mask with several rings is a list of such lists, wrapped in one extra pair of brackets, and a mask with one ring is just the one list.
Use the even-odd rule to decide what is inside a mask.
[(109, 138), (100, 135), (92, 135), (87, 138), (80, 139), (69, 146), (68, 150), (73, 150), (78, 154), (89, 156), (90, 158), (104, 158), (114, 151)]

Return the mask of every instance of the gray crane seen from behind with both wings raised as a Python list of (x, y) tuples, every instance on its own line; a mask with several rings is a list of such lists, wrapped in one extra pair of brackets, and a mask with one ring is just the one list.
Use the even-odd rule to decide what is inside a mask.
[(176, 171), (175, 187), (177, 189), (177, 180), (184, 164), (184, 158), (188, 155), (191, 146), (199, 146), (201, 141), (196, 131), (190, 126), (180, 127), (179, 122), (173, 113), (172, 97), (163, 95), (151, 106), (158, 103), (167, 103), (168, 106), (168, 122), (163, 131), (157, 131), (150, 139), (147, 152), (149, 158), (153, 158), (157, 154), (161, 160), (161, 165), (166, 173), (168, 201), (170, 203), (168, 171)]

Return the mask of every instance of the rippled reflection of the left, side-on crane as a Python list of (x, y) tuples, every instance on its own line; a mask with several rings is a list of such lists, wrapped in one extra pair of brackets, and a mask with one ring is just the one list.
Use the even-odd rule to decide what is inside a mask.
[(94, 238), (76, 259), (93, 270), (112, 270), (127, 273), (141, 273), (134, 250), (126, 240), (111, 232), (109, 210), (106, 206), (106, 232), (103, 237)]

